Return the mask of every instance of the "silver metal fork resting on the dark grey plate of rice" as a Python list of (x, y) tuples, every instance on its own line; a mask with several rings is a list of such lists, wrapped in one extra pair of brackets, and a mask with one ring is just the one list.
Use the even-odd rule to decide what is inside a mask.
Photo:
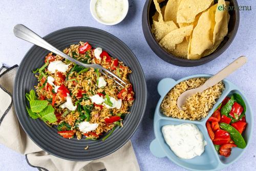
[(60, 50), (58, 50), (54, 46), (50, 45), (46, 40), (42, 39), (39, 35), (37, 35), (35, 32), (33, 32), (32, 30), (30, 30), (29, 28), (27, 28), (24, 25), (18, 24), (16, 26), (14, 26), (13, 33), (14, 33), (14, 35), (16, 37), (24, 39), (26, 41), (29, 41), (32, 44), (35, 44), (35, 45), (37, 45), (37, 46), (39, 46), (41, 48), (47, 49), (47, 50), (49, 50), (49, 51), (51, 51), (51, 52), (53, 52), (53, 53), (55, 53), (55, 54), (65, 58), (65, 59), (70, 60), (73, 63), (76, 63), (79, 66), (82, 66), (82, 67), (85, 67), (85, 68), (98, 69), (101, 74), (106, 75), (109, 78), (112, 78), (121, 87), (124, 87), (127, 84), (121, 78), (119, 78), (117, 75), (115, 75), (111, 71), (105, 69), (101, 65), (98, 65), (98, 64), (85, 64), (85, 63), (82, 63), (82, 62), (80, 62), (80, 61), (70, 57), (69, 55), (61, 52)]

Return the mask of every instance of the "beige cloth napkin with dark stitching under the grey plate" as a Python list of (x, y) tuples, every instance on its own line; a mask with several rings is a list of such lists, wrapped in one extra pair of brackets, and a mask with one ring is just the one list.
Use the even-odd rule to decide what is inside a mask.
[(0, 69), (0, 143), (26, 155), (28, 164), (39, 170), (140, 170), (131, 141), (109, 156), (93, 161), (69, 161), (52, 156), (38, 147), (20, 126), (12, 99), (14, 78), (18, 66)]

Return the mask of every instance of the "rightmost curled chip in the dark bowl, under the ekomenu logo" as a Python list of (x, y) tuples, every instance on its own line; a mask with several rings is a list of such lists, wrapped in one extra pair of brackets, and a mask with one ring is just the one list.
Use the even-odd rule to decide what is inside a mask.
[[(227, 3), (229, 6), (229, 2)], [(224, 0), (218, 1), (218, 7), (215, 14), (215, 27), (214, 27), (214, 44), (218, 40), (223, 40), (228, 32), (228, 11), (227, 10), (219, 10), (219, 7), (224, 6), (224, 9), (228, 7)]]

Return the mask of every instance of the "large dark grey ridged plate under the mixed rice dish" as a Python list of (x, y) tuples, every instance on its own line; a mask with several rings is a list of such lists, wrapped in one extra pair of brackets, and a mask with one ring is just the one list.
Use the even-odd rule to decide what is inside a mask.
[[(44, 39), (60, 50), (71, 44), (77, 44), (81, 40), (89, 41), (92, 46), (108, 51), (111, 56), (123, 61), (133, 71), (130, 80), (136, 99), (130, 109), (131, 113), (126, 115), (123, 121), (124, 127), (116, 129), (105, 141), (62, 138), (54, 127), (47, 126), (39, 119), (30, 118), (26, 112), (28, 101), (25, 98), (25, 93), (33, 89), (37, 83), (37, 79), (31, 71), (41, 67), (44, 64), (44, 57), (49, 53), (45, 49), (33, 46), (20, 63), (13, 92), (16, 114), (24, 131), (44, 151), (67, 160), (94, 160), (115, 152), (132, 137), (145, 111), (146, 83), (139, 61), (121, 40), (95, 28), (65, 28), (45, 36)], [(85, 150), (84, 147), (87, 145), (89, 145), (89, 149)]]

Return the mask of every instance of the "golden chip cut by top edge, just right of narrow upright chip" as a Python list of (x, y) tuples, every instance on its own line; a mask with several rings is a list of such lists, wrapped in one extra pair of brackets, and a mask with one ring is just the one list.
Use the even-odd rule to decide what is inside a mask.
[(177, 10), (181, 0), (169, 0), (164, 11), (164, 20), (166, 22), (173, 20), (177, 24)]

